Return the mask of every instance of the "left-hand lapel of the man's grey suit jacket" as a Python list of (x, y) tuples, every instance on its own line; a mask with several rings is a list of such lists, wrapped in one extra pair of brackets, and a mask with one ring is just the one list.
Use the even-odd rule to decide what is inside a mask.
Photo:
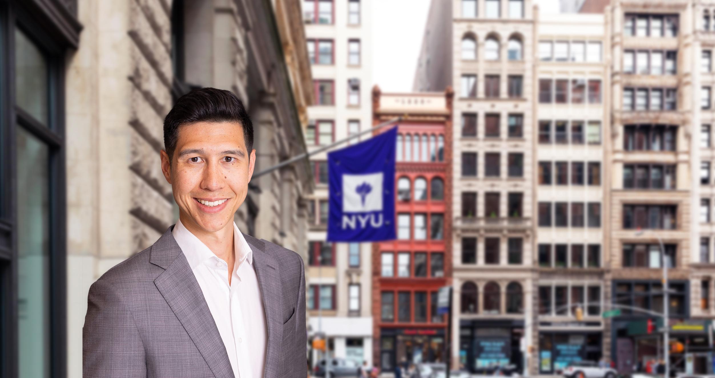
[(154, 279), (159, 292), (184, 326), (217, 378), (234, 377), (219, 330), (172, 227), (152, 246), (150, 261), (166, 269)]

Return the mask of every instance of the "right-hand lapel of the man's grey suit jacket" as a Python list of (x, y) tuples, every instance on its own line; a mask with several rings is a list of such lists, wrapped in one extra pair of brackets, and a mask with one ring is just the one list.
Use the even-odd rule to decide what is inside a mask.
[(281, 369), (280, 355), (283, 339), (282, 287), (280, 271), (275, 259), (265, 252), (265, 242), (243, 234), (253, 251), (253, 267), (261, 289), (263, 309), (266, 314), (267, 342), (264, 378), (277, 377)]

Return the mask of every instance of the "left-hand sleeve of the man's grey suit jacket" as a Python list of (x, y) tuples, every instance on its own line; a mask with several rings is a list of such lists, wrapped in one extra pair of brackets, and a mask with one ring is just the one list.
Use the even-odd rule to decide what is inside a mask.
[(82, 376), (147, 377), (144, 345), (134, 316), (112, 284), (89, 288), (82, 329)]

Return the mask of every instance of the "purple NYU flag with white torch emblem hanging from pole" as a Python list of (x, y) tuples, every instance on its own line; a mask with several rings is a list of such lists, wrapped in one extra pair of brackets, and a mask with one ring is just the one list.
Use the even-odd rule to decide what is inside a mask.
[(395, 239), (397, 127), (327, 154), (328, 242)]

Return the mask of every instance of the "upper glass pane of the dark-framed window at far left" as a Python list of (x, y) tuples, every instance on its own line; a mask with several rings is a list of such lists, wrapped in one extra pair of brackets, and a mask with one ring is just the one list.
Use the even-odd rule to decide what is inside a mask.
[(37, 121), (48, 124), (47, 60), (35, 44), (15, 29), (16, 103)]

